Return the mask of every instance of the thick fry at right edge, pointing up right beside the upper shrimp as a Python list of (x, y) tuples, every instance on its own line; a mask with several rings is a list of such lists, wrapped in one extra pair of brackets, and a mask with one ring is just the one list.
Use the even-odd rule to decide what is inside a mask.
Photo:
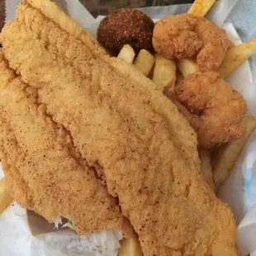
[(226, 78), (230, 73), (235, 71), (249, 57), (256, 53), (256, 39), (237, 45), (227, 51), (225, 59), (220, 67), (220, 75)]

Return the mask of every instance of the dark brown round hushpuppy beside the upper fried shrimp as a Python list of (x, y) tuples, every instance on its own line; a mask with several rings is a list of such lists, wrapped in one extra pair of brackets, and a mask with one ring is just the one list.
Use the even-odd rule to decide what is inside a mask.
[(154, 21), (143, 12), (120, 9), (105, 17), (97, 30), (97, 40), (112, 55), (118, 55), (123, 45), (129, 44), (136, 53), (153, 50)]

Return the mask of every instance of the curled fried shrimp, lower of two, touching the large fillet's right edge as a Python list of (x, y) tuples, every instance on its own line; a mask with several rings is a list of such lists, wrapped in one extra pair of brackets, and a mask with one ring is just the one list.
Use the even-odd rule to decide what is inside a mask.
[(239, 92), (218, 73), (192, 73), (175, 88), (175, 97), (194, 114), (190, 119), (201, 148), (211, 148), (244, 135), (239, 119), (247, 105)]

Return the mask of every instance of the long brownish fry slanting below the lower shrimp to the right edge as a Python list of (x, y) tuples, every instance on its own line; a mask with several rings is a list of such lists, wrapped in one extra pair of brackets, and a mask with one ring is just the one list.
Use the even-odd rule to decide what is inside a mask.
[(244, 116), (241, 123), (246, 127), (243, 137), (235, 142), (221, 146), (212, 154), (211, 163), (216, 190), (229, 177), (232, 168), (234, 168), (235, 163), (244, 149), (246, 141), (256, 129), (256, 119), (254, 116)]

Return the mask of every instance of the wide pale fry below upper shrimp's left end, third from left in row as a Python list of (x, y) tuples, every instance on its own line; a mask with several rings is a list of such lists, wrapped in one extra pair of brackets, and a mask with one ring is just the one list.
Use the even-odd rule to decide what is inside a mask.
[(172, 59), (165, 59), (161, 55), (155, 56), (152, 80), (163, 91), (164, 87), (173, 87), (176, 79), (176, 64)]

